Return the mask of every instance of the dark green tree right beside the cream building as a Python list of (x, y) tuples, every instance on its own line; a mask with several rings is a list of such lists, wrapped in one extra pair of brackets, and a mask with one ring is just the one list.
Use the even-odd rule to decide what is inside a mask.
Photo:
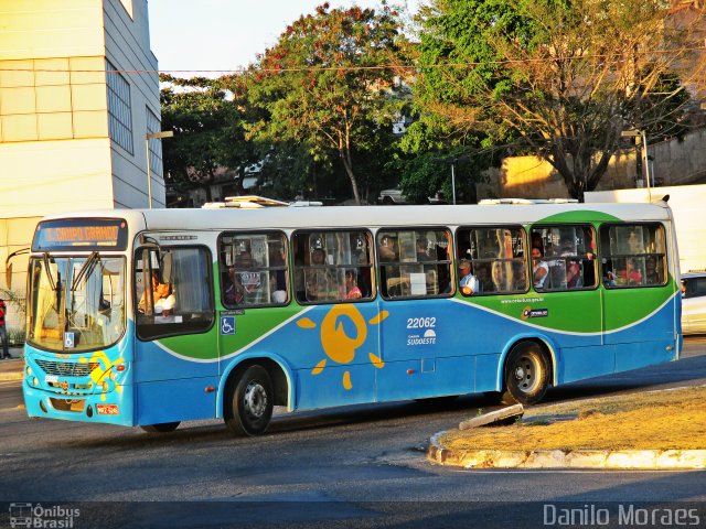
[(182, 187), (202, 187), (211, 201), (216, 170), (238, 170), (243, 191), (245, 168), (257, 161), (245, 140), (242, 82), (237, 77), (181, 79), (161, 75), (168, 83), (160, 94), (162, 129), (174, 138), (163, 143), (165, 180)]

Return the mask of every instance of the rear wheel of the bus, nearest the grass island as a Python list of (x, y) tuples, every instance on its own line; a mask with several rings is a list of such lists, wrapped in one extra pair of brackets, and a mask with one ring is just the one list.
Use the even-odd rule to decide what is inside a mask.
[(536, 404), (549, 386), (549, 360), (536, 342), (521, 342), (507, 355), (504, 403)]

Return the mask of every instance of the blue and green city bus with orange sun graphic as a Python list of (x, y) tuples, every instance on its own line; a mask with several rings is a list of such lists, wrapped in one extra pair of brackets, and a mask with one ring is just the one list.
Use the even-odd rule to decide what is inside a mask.
[(263, 434), (274, 407), (534, 404), (676, 360), (678, 278), (664, 202), (51, 216), (29, 261), (24, 402), (237, 435)]

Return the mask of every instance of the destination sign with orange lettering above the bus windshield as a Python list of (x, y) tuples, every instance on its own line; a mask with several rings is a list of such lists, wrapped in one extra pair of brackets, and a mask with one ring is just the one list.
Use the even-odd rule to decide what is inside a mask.
[(125, 250), (127, 240), (127, 223), (119, 218), (49, 220), (38, 225), (32, 251)]

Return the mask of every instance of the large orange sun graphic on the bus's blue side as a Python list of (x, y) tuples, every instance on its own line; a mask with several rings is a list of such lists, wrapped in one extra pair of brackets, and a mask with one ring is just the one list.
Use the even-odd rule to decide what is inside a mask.
[[(387, 311), (381, 311), (370, 322), (371, 325), (378, 325), (383, 320), (388, 316)], [(355, 326), (355, 335), (349, 336), (343, 328), (343, 322), (341, 317), (349, 319)], [(317, 328), (317, 324), (308, 317), (302, 317), (297, 321), (297, 325), (301, 328)], [(334, 305), (324, 316), (321, 322), (321, 345), (325, 355), (335, 363), (350, 364), (355, 358), (356, 349), (365, 343), (367, 338), (367, 325), (363, 314), (353, 304)], [(382, 358), (368, 353), (367, 356), (371, 363), (378, 369), (385, 367), (385, 363)], [(327, 367), (328, 359), (323, 358), (311, 370), (312, 375), (320, 375)], [(353, 388), (351, 381), (351, 373), (349, 370), (343, 373), (343, 387), (346, 390)]]

